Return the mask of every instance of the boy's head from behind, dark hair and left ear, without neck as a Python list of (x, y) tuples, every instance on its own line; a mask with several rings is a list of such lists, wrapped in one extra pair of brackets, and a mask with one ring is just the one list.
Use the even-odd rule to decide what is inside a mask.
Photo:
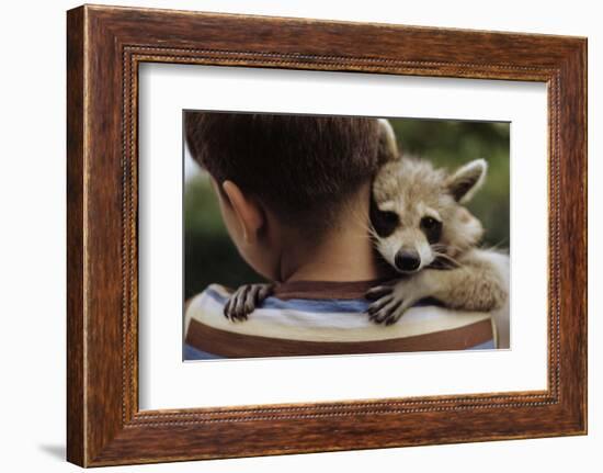
[(239, 251), (270, 279), (275, 235), (319, 241), (383, 160), (375, 119), (186, 112), (185, 134)]

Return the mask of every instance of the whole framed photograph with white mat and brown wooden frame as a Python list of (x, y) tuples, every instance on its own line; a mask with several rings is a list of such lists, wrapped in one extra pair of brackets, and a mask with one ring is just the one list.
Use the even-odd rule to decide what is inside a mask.
[(67, 14), (68, 460), (587, 432), (587, 40)]

